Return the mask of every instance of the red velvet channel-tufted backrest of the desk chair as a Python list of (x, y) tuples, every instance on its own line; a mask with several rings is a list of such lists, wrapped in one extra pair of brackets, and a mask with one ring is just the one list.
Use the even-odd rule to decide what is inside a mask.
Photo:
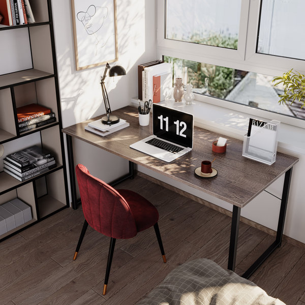
[(85, 220), (98, 232), (113, 238), (131, 238), (136, 223), (126, 200), (104, 181), (78, 164), (76, 177)]

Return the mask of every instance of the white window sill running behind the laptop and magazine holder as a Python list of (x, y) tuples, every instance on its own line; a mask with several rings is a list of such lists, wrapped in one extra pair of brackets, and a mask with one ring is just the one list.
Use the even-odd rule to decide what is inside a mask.
[[(131, 105), (138, 107), (138, 99), (131, 99)], [(240, 140), (243, 140), (243, 135), (247, 133), (250, 117), (266, 120), (256, 115), (196, 100), (192, 105), (186, 105), (184, 100), (175, 103), (170, 99), (161, 102), (160, 105), (193, 114), (195, 126)], [(281, 123), (278, 150), (287, 154), (305, 155), (304, 129)]]

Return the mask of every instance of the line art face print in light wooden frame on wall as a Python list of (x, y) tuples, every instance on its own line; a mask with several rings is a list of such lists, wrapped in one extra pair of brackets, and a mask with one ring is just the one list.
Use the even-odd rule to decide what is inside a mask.
[(116, 0), (71, 0), (76, 70), (115, 62)]

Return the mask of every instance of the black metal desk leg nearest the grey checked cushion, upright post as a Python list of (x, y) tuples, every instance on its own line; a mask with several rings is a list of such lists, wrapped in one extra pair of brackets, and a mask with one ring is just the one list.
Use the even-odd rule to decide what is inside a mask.
[(237, 241), (238, 241), (238, 230), (239, 230), (239, 219), (240, 219), (240, 207), (238, 207), (236, 205), (233, 205), (229, 259), (228, 259), (228, 269), (232, 270), (232, 271), (235, 270)]

